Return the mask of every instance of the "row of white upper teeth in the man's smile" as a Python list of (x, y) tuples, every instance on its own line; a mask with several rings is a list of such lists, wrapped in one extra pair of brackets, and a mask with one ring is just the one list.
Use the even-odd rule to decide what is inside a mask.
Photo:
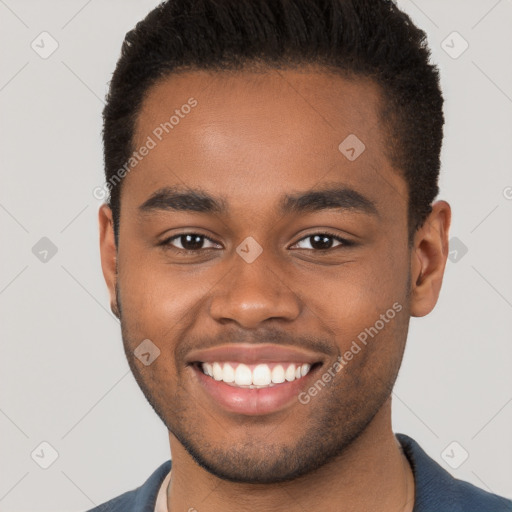
[[(272, 368), (271, 368), (272, 366)], [(291, 382), (304, 377), (311, 365), (308, 363), (257, 364), (248, 366), (240, 363), (202, 363), (203, 372), (215, 380), (237, 386), (271, 386), (285, 380)]]

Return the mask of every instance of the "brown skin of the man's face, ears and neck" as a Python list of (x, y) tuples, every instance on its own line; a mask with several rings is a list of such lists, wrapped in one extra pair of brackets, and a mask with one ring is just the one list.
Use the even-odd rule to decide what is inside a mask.
[[(386, 157), (372, 82), (319, 70), (174, 76), (149, 91), (135, 147), (191, 96), (198, 105), (123, 182), (117, 250), (111, 211), (99, 211), (103, 273), (126, 355), (169, 430), (169, 510), (411, 511), (414, 479), (391, 428), (390, 394), (409, 318), (428, 314), (439, 296), (449, 204), (434, 203), (410, 248), (407, 185)], [(366, 145), (353, 162), (338, 151), (351, 133)], [(276, 213), (283, 195), (333, 183), (374, 201), (379, 215)], [(222, 196), (229, 211), (139, 215), (153, 192), (172, 185)], [(357, 245), (333, 242), (320, 254), (307, 236), (327, 228)], [(196, 256), (158, 246), (184, 231), (214, 248)], [(248, 236), (263, 248), (251, 264), (235, 252)], [(327, 347), (320, 376), (395, 302), (402, 311), (307, 405), (228, 413), (184, 360), (190, 349), (275, 334), (284, 344)], [(161, 351), (149, 366), (133, 355), (146, 338)]]

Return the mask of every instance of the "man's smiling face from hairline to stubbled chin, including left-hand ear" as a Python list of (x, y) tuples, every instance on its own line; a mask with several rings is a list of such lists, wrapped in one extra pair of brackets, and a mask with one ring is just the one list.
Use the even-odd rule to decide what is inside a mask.
[(187, 72), (145, 99), (104, 272), (139, 386), (221, 478), (320, 467), (389, 398), (414, 267), (381, 101), (318, 71)]

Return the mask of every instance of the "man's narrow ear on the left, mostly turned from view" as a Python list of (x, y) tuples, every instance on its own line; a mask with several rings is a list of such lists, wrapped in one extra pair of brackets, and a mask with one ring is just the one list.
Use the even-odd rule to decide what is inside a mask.
[(110, 294), (110, 309), (119, 318), (116, 296), (117, 248), (114, 238), (112, 210), (107, 204), (101, 205), (98, 211), (98, 221), (100, 228), (101, 268)]

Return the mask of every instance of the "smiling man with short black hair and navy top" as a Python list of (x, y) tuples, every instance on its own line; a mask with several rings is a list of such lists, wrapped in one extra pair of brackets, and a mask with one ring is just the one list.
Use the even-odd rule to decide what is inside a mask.
[(174, 0), (127, 34), (101, 259), (172, 471), (93, 510), (512, 510), (391, 428), (448, 255), (429, 57), (388, 0)]

